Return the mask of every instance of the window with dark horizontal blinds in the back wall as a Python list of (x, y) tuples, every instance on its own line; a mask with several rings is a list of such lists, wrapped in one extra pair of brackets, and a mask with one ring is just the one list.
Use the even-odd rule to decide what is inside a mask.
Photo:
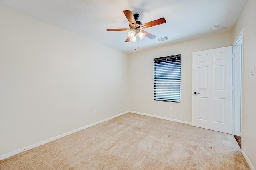
[(180, 102), (180, 54), (154, 59), (154, 100)]

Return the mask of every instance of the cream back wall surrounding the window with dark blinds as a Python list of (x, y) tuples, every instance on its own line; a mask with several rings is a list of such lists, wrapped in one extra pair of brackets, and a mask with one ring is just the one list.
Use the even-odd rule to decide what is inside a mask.
[[(191, 123), (192, 52), (231, 44), (232, 34), (226, 32), (129, 55), (130, 110)], [(176, 54), (181, 54), (181, 102), (154, 101), (153, 59)]]

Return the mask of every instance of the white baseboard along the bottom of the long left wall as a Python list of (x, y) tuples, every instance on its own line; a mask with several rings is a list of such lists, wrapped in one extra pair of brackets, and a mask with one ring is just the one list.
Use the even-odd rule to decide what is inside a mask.
[(25, 150), (29, 150), (29, 149), (38, 147), (38, 146), (40, 146), (40, 145), (44, 145), (44, 144), (46, 144), (46, 143), (48, 143), (48, 142), (54, 141), (54, 140), (56, 140), (56, 139), (60, 139), (61, 137), (70, 135), (70, 134), (75, 133), (75, 132), (78, 132), (78, 131), (81, 131), (81, 130), (83, 130), (83, 129), (86, 129), (86, 128), (91, 127), (91, 126), (94, 126), (94, 125), (97, 125), (97, 124), (102, 123), (102, 122), (104, 122), (104, 121), (108, 121), (108, 120), (113, 119), (113, 118), (115, 118), (115, 117), (118, 117), (118, 116), (120, 116), (120, 115), (124, 115), (124, 114), (126, 114), (126, 113), (129, 113), (129, 111), (125, 111), (125, 112), (120, 113), (120, 114), (118, 114), (118, 115), (114, 115), (114, 116), (109, 117), (109, 118), (107, 118), (107, 119), (103, 119), (103, 120), (101, 120), (101, 121), (97, 121), (97, 122), (95, 122), (95, 123), (92, 123), (92, 124), (90, 124), (90, 125), (86, 125), (86, 126), (84, 126), (84, 127), (80, 127), (80, 128), (75, 129), (75, 130), (73, 130), (73, 131), (70, 131), (70, 132), (67, 132), (67, 133), (63, 133), (62, 135), (58, 135), (58, 136), (56, 136), (56, 137), (52, 137), (52, 138), (50, 138), (50, 139), (46, 139), (46, 140), (44, 140), (44, 141), (35, 143), (35, 144), (33, 144), (33, 145), (29, 145), (29, 146), (27, 146), (27, 147), (24, 147), (24, 148), (21, 148), (21, 149), (18, 149), (18, 150), (14, 150), (14, 151), (12, 151), (12, 152), (10, 152), (10, 153), (3, 154), (3, 155), (0, 156), (0, 160), (9, 158), (9, 157), (11, 157), (11, 156), (14, 156), (14, 155), (16, 155), (16, 154), (19, 154), (19, 153), (21, 153), (21, 152), (24, 152)]

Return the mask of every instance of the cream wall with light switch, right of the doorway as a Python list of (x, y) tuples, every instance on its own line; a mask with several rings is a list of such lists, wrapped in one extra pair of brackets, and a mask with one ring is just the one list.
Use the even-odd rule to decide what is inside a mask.
[(255, 9), (256, 1), (248, 1), (233, 30), (233, 40), (235, 40), (244, 28), (242, 150), (254, 169), (256, 168), (256, 72), (250, 75), (250, 66), (256, 66)]

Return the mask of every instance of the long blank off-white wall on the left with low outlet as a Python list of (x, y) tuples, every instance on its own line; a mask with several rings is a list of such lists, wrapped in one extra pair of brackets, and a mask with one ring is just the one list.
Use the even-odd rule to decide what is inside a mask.
[(0, 19), (1, 155), (129, 110), (126, 53), (4, 5)]

